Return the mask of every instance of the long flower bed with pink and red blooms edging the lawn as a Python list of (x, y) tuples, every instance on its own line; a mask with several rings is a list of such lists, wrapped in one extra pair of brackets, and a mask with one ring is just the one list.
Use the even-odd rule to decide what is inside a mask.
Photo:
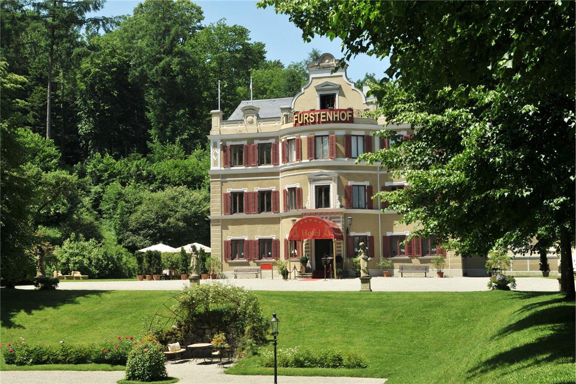
[(138, 341), (134, 336), (118, 336), (101, 344), (77, 345), (60, 341), (55, 345), (18, 343), (0, 345), (6, 364), (17, 366), (37, 364), (88, 364), (104, 363), (126, 365), (128, 353)]

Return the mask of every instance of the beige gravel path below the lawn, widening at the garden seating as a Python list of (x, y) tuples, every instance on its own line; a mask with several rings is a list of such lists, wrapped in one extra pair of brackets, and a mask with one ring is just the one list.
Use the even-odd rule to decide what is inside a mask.
[[(194, 360), (167, 363), (168, 375), (181, 384), (270, 384), (271, 375), (226, 375), (217, 364), (197, 364)], [(10, 384), (113, 384), (124, 378), (123, 371), (2, 371), (0, 382)], [(282, 384), (382, 384), (386, 379), (359, 377), (279, 376)]]

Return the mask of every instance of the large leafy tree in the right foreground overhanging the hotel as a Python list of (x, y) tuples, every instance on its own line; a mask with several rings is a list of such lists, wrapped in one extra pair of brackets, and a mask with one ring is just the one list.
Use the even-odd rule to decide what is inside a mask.
[(574, 299), (574, 2), (267, 5), (304, 39), (342, 39), (347, 59), (390, 56), (378, 113), (416, 134), (364, 159), (406, 177), (410, 188), (384, 197), (416, 234), (462, 254), (535, 251), (545, 234)]

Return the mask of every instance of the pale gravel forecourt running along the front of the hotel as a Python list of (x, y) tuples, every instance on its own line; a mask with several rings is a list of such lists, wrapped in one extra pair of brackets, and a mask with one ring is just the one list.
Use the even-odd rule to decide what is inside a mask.
[[(557, 292), (556, 279), (542, 277), (517, 277), (517, 291)], [(223, 280), (201, 280), (202, 284), (212, 282), (230, 283), (255, 291), (358, 291), (359, 279), (342, 280), (279, 280), (240, 278)], [(487, 277), (372, 277), (372, 290), (377, 292), (470, 292), (486, 291)], [(157, 282), (70, 282), (61, 283), (59, 290), (120, 290), (120, 291), (177, 291), (188, 286), (188, 281), (161, 280)], [(18, 286), (20, 289), (33, 289), (32, 286)]]

